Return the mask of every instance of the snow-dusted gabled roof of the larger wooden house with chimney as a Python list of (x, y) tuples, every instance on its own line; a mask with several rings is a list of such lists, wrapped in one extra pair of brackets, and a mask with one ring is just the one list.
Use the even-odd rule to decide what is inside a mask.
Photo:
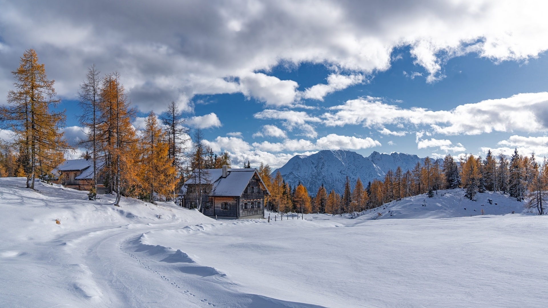
[[(213, 185), (212, 192), (209, 194), (210, 196), (241, 196), (255, 174), (258, 176), (265, 190), (265, 195), (270, 195), (261, 176), (254, 168), (227, 169), (226, 178), (222, 178), (222, 169), (204, 169), (204, 172), (207, 174), (207, 180), (204, 179), (204, 183), (202, 184), (209, 182), (209, 184)], [(194, 174), (196, 174), (196, 170)], [(191, 177), (186, 180), (185, 185), (187, 184), (199, 184), (199, 182), (196, 182), (195, 178)]]

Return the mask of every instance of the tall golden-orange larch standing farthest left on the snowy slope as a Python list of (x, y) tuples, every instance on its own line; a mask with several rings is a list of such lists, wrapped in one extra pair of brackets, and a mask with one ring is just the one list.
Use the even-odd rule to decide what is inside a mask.
[(25, 50), (19, 68), (12, 73), (15, 90), (8, 92), (8, 105), (0, 106), (0, 125), (15, 133), (26, 186), (34, 189), (36, 176), (49, 174), (63, 161), (64, 152), (70, 150), (59, 131), (65, 123), (65, 113), (53, 111), (60, 102), (55, 98), (55, 81), (47, 78), (35, 50)]

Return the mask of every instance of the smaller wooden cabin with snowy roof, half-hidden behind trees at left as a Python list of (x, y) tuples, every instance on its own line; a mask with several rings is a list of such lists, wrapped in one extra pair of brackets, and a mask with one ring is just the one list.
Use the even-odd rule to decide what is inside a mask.
[[(97, 162), (98, 166), (102, 163)], [(99, 169), (99, 167), (98, 167)], [(92, 159), (67, 159), (53, 170), (58, 177), (56, 184), (61, 184), (77, 190), (89, 190), (93, 185)], [(104, 187), (104, 174), (98, 172), (98, 190)]]

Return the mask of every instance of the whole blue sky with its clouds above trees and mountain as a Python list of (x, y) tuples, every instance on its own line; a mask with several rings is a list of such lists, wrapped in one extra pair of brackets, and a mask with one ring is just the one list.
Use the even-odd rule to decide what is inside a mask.
[[(326, 149), (548, 155), (542, 2), (2, 3), (0, 91), (35, 48), (71, 140), (83, 136), (75, 97), (95, 63), (121, 73), (140, 117), (174, 100), (236, 165)], [(29, 7), (47, 35), (30, 30)]]

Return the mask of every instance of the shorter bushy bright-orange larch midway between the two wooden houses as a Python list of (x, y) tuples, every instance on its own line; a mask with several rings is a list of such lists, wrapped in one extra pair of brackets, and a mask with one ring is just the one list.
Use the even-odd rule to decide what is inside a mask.
[(145, 131), (141, 138), (142, 184), (148, 188), (151, 203), (154, 203), (155, 192), (169, 198), (175, 187), (175, 166), (172, 157), (169, 157), (169, 143), (165, 135), (155, 113), (151, 111), (145, 119)]

